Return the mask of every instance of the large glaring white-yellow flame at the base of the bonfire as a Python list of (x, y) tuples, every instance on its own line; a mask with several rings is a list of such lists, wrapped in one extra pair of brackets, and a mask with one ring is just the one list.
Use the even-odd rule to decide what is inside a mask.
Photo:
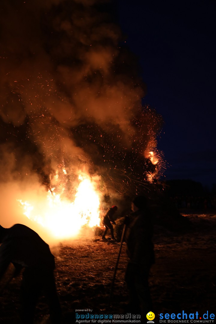
[(18, 200), (30, 220), (39, 223), (56, 238), (70, 238), (79, 234), (82, 226), (99, 226), (100, 200), (97, 184), (87, 175), (79, 175), (74, 202), (61, 198), (54, 188), (44, 201), (34, 206)]

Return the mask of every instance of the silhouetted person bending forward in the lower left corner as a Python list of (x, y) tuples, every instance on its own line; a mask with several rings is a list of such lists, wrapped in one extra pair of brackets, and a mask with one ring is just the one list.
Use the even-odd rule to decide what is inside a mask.
[(49, 245), (32, 229), (16, 224), (0, 226), (0, 280), (12, 262), (17, 271), (23, 267), (21, 284), (21, 319), (33, 323), (34, 310), (41, 293), (47, 297), (51, 323), (61, 322), (61, 308), (56, 293), (54, 256)]

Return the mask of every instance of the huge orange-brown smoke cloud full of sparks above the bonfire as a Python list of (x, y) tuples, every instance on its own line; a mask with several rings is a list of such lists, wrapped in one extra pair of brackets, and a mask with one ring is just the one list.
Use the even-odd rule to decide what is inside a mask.
[[(76, 217), (70, 208), (78, 208), (79, 194), (80, 205), (90, 196), (78, 192), (85, 184), (97, 193), (90, 200), (98, 204), (94, 211), (86, 207), (85, 224), (97, 214), (98, 225), (104, 196), (130, 192), (159, 174), (156, 135), (162, 119), (141, 106), (145, 91), (136, 64), (120, 48), (121, 33), (105, 8), (94, 0), (1, 3), (3, 223), (12, 210), (21, 222), (17, 200), (45, 227), (63, 214)], [(45, 195), (52, 204), (48, 223), (41, 218)], [(6, 206), (12, 200), (13, 208)], [(60, 200), (70, 212), (56, 207)], [(76, 212), (82, 223), (85, 211)]]

